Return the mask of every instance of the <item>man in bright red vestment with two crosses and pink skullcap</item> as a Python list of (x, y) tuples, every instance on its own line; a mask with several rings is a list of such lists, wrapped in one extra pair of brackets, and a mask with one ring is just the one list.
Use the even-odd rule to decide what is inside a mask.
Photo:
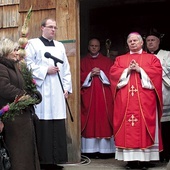
[(157, 57), (143, 51), (140, 34), (130, 33), (130, 49), (110, 69), (114, 100), (115, 158), (127, 168), (147, 168), (159, 160), (162, 148), (162, 67)]

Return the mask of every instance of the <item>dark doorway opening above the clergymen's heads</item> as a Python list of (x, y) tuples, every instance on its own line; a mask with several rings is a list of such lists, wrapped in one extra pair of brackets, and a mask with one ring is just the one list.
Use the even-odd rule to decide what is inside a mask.
[(111, 49), (123, 54), (127, 51), (127, 35), (135, 31), (144, 36), (150, 27), (165, 34), (162, 48), (170, 50), (170, 2), (148, 1), (81, 0), (81, 56), (87, 53), (88, 40), (92, 37), (101, 40), (103, 53), (106, 52), (105, 41), (110, 39)]

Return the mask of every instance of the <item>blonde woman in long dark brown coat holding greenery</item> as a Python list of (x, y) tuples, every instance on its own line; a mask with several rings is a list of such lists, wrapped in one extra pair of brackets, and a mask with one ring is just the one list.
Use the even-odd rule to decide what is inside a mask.
[[(18, 45), (10, 39), (0, 41), (0, 108), (23, 96), (24, 79), (18, 67)], [(20, 114), (22, 113), (22, 114)], [(0, 123), (11, 158), (11, 170), (40, 170), (34, 121), (38, 120), (33, 105), (17, 111), (13, 119)], [(4, 124), (4, 128), (3, 128)]]

